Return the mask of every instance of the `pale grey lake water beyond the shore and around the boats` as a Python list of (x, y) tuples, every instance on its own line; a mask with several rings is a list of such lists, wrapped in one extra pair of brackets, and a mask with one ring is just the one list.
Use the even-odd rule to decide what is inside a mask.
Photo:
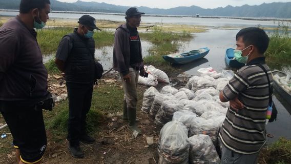
[[(18, 12), (1, 12), (1, 15), (15, 16)], [(67, 13), (50, 13), (50, 18), (67, 18), (67, 19), (77, 19), (82, 14), (67, 14)], [(91, 14), (97, 19), (108, 19), (115, 21), (124, 20), (124, 16), (121, 15), (100, 15)], [(224, 63), (224, 53), (227, 48), (235, 48), (236, 40), (235, 36), (241, 27), (250, 27), (260, 25), (262, 27), (276, 27), (278, 22), (274, 21), (262, 21), (262, 20), (242, 20), (242, 19), (224, 19), (224, 18), (195, 18), (195, 17), (142, 17), (142, 22), (144, 23), (173, 23), (173, 24), (187, 24), (187, 25), (199, 25), (199, 26), (209, 26), (207, 32), (195, 33), (194, 38), (190, 42), (181, 43), (179, 52), (188, 52), (190, 50), (198, 49), (201, 47), (208, 47), (210, 49), (209, 54), (204, 58), (195, 61), (191, 64), (186, 64), (182, 66), (174, 66), (182, 69), (186, 74), (196, 75), (199, 68), (213, 67), (216, 71), (220, 72), (225, 69)], [(98, 24), (98, 22), (97, 22)], [(217, 27), (234, 27), (232, 29), (218, 29)], [(237, 28), (236, 28), (237, 27)], [(152, 46), (151, 43), (142, 40), (142, 54), (148, 56), (148, 49)], [(112, 67), (112, 54), (113, 47), (107, 46), (101, 49), (96, 49), (95, 57), (100, 59), (100, 63), (103, 65), (104, 69), (108, 70)], [(50, 57), (45, 56), (44, 61), (48, 60)], [(274, 138), (268, 138), (268, 141), (274, 141), (279, 136), (284, 136), (291, 139), (291, 131), (288, 130), (291, 127), (291, 115), (286, 109), (290, 107), (280, 99), (280, 97), (275, 94), (274, 102), (278, 110), (278, 119), (275, 122), (269, 123), (266, 128), (267, 132), (274, 135)], [(278, 98), (280, 99), (278, 99)], [(283, 104), (282, 104), (282, 103)]]

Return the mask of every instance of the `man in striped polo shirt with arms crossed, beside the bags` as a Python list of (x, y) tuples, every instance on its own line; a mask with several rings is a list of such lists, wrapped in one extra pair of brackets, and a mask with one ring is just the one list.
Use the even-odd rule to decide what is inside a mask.
[(219, 132), (223, 145), (221, 163), (257, 163), (265, 144), (269, 85), (265, 72), (258, 65), (267, 70), (272, 84), (271, 72), (263, 56), (268, 43), (267, 34), (259, 28), (245, 28), (236, 35), (235, 56), (246, 65), (237, 71), (219, 95), (222, 102), (230, 101)]

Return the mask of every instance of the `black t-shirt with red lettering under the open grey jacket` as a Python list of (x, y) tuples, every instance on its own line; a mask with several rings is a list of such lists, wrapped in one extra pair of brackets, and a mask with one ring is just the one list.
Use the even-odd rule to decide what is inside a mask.
[(141, 52), (139, 49), (140, 39), (138, 37), (137, 28), (132, 28), (127, 25), (130, 31), (130, 65), (140, 63), (142, 61)]

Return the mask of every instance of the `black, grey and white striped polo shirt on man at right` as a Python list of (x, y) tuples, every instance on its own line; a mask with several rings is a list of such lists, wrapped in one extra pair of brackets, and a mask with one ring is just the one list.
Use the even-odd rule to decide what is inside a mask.
[(250, 61), (237, 71), (222, 93), (227, 100), (238, 97), (244, 108), (228, 108), (219, 137), (223, 145), (237, 153), (254, 154), (266, 142), (266, 111), (269, 102), (268, 80), (256, 64), (262, 64), (272, 83), (272, 75), (264, 57)]

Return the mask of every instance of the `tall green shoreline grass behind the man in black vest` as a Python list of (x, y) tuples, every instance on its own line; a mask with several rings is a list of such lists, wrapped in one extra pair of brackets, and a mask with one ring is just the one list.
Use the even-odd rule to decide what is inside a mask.
[[(73, 28), (58, 27), (37, 30), (37, 41), (44, 55), (55, 54), (58, 44), (63, 36), (72, 33)], [(114, 33), (108, 30), (95, 31), (95, 47), (111, 46), (114, 42)]]

